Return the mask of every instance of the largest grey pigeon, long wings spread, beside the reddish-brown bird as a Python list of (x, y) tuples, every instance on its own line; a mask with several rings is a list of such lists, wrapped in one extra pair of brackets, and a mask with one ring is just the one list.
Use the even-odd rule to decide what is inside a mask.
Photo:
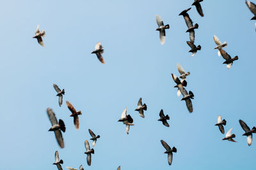
[(58, 123), (57, 118), (55, 117), (55, 114), (51, 108), (47, 108), (47, 115), (52, 124), (52, 127), (49, 129), (49, 131), (54, 131), (58, 144), (60, 145), (61, 148), (64, 148), (64, 141), (62, 138), (61, 131), (65, 132), (66, 127), (63, 120), (60, 119)]

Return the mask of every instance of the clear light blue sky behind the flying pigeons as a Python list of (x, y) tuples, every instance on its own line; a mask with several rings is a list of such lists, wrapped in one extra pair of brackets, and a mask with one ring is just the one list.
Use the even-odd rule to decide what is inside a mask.
[[(256, 126), (253, 15), (242, 0), (204, 1), (205, 17), (193, 6), (189, 15), (199, 25), (195, 44), (202, 50), (190, 57), (189, 34), (178, 15), (192, 3), (2, 1), (1, 169), (57, 169), (52, 165), (56, 150), (63, 169), (81, 164), (84, 169), (255, 169), (256, 139), (248, 146), (238, 122)], [(170, 25), (164, 45), (155, 31), (156, 14)], [(38, 24), (46, 32), (45, 47), (32, 38)], [(239, 57), (229, 70), (213, 49), (213, 35)], [(98, 41), (106, 64), (91, 54)], [(191, 114), (173, 88), (177, 62), (191, 73), (186, 88), (195, 95)], [(65, 89), (61, 107), (53, 83)], [(145, 118), (134, 111), (140, 97), (148, 106)], [(79, 131), (65, 101), (83, 113)], [(48, 107), (66, 124), (63, 149), (48, 132)], [(135, 124), (129, 135), (117, 122), (125, 107)], [(157, 122), (161, 109), (170, 115), (170, 127)], [(234, 128), (237, 143), (221, 141), (224, 135), (214, 126), (218, 115), (227, 120), (225, 132)], [(84, 154), (88, 128), (100, 134), (90, 167)], [(177, 148), (172, 166), (161, 139)]]

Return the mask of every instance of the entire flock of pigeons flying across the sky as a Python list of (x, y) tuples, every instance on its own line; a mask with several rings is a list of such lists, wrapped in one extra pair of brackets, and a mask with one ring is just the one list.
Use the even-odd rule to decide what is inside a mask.
[[(202, 10), (202, 6), (200, 5), (200, 3), (203, 0), (195, 0), (195, 2), (192, 5), (195, 5), (196, 10), (198, 11), (199, 15), (201, 17), (204, 17), (204, 13)], [(250, 1), (246, 1), (246, 5), (248, 6), (248, 8), (250, 9), (250, 11), (252, 11), (253, 13), (253, 17), (252, 20), (256, 20), (256, 5), (253, 4)], [(198, 29), (198, 24), (193, 25), (193, 22), (191, 20), (191, 18), (189, 17), (188, 11), (191, 10), (191, 8), (188, 8), (184, 11), (182, 11), (179, 15), (182, 15), (184, 17), (184, 20), (186, 22), (186, 25), (188, 26), (188, 30), (186, 32), (189, 32), (189, 39), (190, 41), (187, 41), (188, 45), (191, 47), (191, 50), (189, 50), (189, 52), (192, 53), (192, 56), (194, 56), (196, 54), (196, 52), (198, 50), (201, 50), (201, 46), (198, 45), (196, 46), (195, 43), (195, 29)], [(159, 31), (160, 34), (160, 42), (161, 45), (164, 44), (165, 40), (166, 40), (166, 29), (170, 29), (170, 26), (164, 25), (162, 18), (159, 15), (156, 15), (156, 22), (157, 22), (157, 29), (156, 31)], [(255, 23), (255, 28), (256, 28), (256, 23)], [(39, 25), (36, 27), (36, 32), (35, 32), (35, 36), (33, 38), (36, 38), (38, 43), (42, 46), (44, 46), (44, 42), (43, 39), (45, 36), (45, 31), (39, 31)], [(225, 59), (225, 62), (223, 62), (223, 64), (227, 64), (227, 68), (230, 69), (230, 67), (232, 66), (234, 60), (238, 60), (238, 57), (230, 57), (230, 55), (228, 55), (227, 52), (225, 52), (225, 50), (223, 50), (224, 47), (227, 46), (227, 42), (225, 41), (224, 43), (221, 43), (220, 39), (218, 39), (217, 36), (213, 36), (213, 39), (216, 43), (216, 47), (214, 49), (218, 49), (218, 55), (222, 56), (223, 59)], [(100, 62), (102, 62), (103, 64), (104, 59), (102, 57), (102, 53), (104, 52), (103, 46), (100, 44), (100, 42), (98, 42), (95, 45), (95, 50), (93, 50), (92, 53), (95, 53), (97, 55), (97, 58), (100, 60)], [(177, 77), (175, 76), (175, 74), (172, 74), (172, 78), (173, 81), (175, 81), (176, 85), (175, 87), (177, 87), (177, 96), (179, 97), (180, 94), (182, 94), (182, 99), (181, 101), (186, 101), (186, 106), (188, 108), (188, 111), (190, 113), (193, 112), (193, 105), (191, 102), (191, 99), (194, 99), (194, 94), (193, 92), (189, 91), (187, 92), (187, 90), (184, 88), (187, 85), (187, 81), (186, 81), (186, 77), (189, 76), (189, 72), (185, 72), (183, 67), (180, 66), (180, 64), (177, 64), (177, 69), (180, 73), (180, 76)], [(59, 105), (61, 106), (63, 103), (63, 95), (65, 95), (65, 90), (61, 90), (58, 85), (53, 84), (54, 89), (57, 92), (57, 95), (59, 97)], [(68, 109), (71, 111), (71, 115), (70, 117), (74, 118), (74, 125), (75, 128), (78, 130), (79, 129), (79, 115), (82, 115), (81, 111), (76, 111), (76, 109), (74, 108), (74, 106), (66, 101), (67, 107)], [(138, 101), (138, 108), (136, 108), (135, 111), (138, 111), (140, 117), (144, 118), (144, 111), (147, 111), (147, 104), (142, 104), (142, 99), (140, 98), (140, 100)], [(65, 127), (65, 123), (63, 122), (63, 120), (57, 120), (54, 112), (52, 111), (51, 108), (47, 108), (47, 115), (49, 117), (49, 120), (51, 121), (52, 127), (49, 129), (49, 131), (54, 131), (56, 140), (58, 142), (58, 145), (60, 145), (61, 148), (64, 148), (64, 141), (63, 141), (63, 136), (61, 134), (62, 132), (65, 132), (66, 127)], [(163, 123), (164, 126), (169, 127), (169, 124), (167, 122), (167, 120), (170, 120), (170, 117), (168, 115), (164, 115), (163, 110), (160, 111), (159, 113), (159, 120)], [(131, 117), (131, 115), (127, 115), (127, 108), (124, 109), (124, 111), (122, 112), (121, 118), (118, 120), (118, 122), (123, 122), (123, 124), (126, 125), (126, 133), (129, 134), (129, 129), (131, 125), (133, 123), (133, 119)], [(224, 127), (223, 125), (226, 125), (227, 121), (225, 119), (222, 120), (221, 116), (218, 116), (217, 119), (217, 124), (220, 132), (222, 134), (225, 133)], [(241, 127), (244, 130), (244, 134), (243, 136), (247, 136), (247, 143), (248, 145), (252, 145), (252, 133), (256, 133), (256, 127), (253, 127), (252, 129), (250, 129), (250, 127), (248, 127), (248, 125), (246, 125), (246, 123), (243, 122), (243, 120), (239, 120), (239, 124), (241, 125)], [(88, 129), (90, 135), (92, 136), (91, 140), (92, 140), (92, 146), (94, 147), (96, 144), (97, 139), (100, 138), (99, 135), (95, 135), (93, 133), (93, 131), (91, 129)], [(228, 141), (232, 141), (232, 142), (236, 142), (234, 141), (233, 138), (236, 138), (235, 134), (231, 134), (232, 128), (226, 133), (225, 138), (223, 138), (222, 140), (228, 140)], [(171, 165), (172, 164), (172, 159), (173, 159), (173, 152), (177, 152), (177, 148), (175, 148), (175, 146), (173, 146), (173, 148), (171, 148), (165, 141), (161, 140), (161, 144), (163, 145), (163, 147), (166, 149), (166, 152), (168, 154), (168, 164)], [(86, 148), (86, 151), (84, 152), (87, 155), (87, 164), (88, 166), (91, 165), (92, 162), (92, 154), (94, 154), (94, 150), (93, 148), (90, 148), (90, 143), (88, 142), (88, 140), (84, 141), (84, 146)], [(60, 160), (59, 158), (59, 154), (58, 151), (55, 152), (55, 162), (53, 163), (54, 165), (56, 165), (58, 167), (59, 170), (62, 169), (61, 164), (63, 164), (63, 160)], [(67, 169), (72, 169), (72, 170), (76, 170), (73, 167), (67, 167)], [(117, 168), (120, 169), (120, 166)], [(83, 166), (81, 165), (79, 167), (79, 170), (83, 170)]]

